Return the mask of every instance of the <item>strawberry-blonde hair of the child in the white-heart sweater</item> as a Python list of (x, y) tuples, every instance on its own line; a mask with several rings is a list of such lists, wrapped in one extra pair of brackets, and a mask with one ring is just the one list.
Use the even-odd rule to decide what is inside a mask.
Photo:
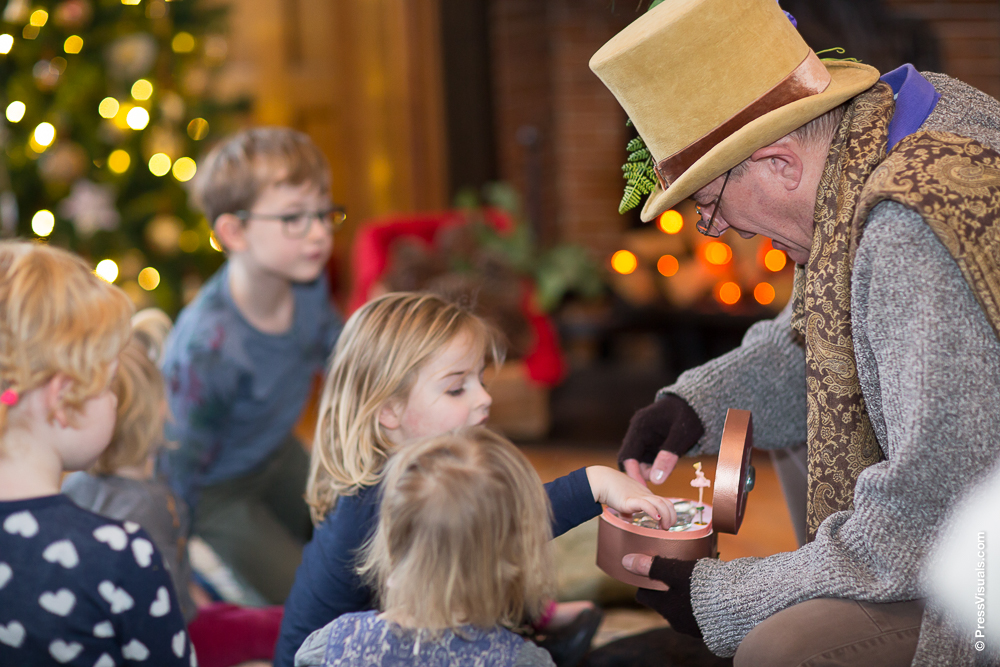
[[(65, 250), (0, 242), (0, 392), (20, 396), (62, 374), (79, 410), (107, 386), (129, 336), (132, 302)], [(0, 403), (0, 433), (9, 406)]]

